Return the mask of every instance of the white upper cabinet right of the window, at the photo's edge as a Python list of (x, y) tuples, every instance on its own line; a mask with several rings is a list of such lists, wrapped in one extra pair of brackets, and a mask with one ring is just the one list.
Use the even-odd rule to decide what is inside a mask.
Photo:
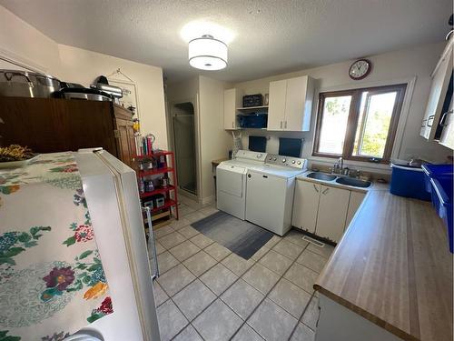
[(453, 39), (451, 38), (431, 75), (432, 83), (430, 85), (429, 101), (419, 133), (428, 140), (439, 139), (441, 132), (440, 119), (444, 112), (447, 111), (443, 110), (443, 106), (445, 105), (449, 81), (452, 76), (452, 45)]

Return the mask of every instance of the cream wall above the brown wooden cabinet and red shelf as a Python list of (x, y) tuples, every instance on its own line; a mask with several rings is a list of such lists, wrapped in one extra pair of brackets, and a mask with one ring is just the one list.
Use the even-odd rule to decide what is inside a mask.
[[(98, 75), (108, 75), (121, 68), (137, 86), (142, 132), (153, 133), (156, 145), (167, 148), (162, 68), (58, 45), (1, 5), (0, 57), (85, 86), (92, 84)], [(13, 66), (5, 61), (0, 63), (0, 67)]]

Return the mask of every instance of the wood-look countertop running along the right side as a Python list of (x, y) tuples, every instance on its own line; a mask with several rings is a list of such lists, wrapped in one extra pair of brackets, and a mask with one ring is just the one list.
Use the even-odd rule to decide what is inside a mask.
[(452, 259), (429, 202), (370, 190), (314, 288), (405, 340), (452, 340)]

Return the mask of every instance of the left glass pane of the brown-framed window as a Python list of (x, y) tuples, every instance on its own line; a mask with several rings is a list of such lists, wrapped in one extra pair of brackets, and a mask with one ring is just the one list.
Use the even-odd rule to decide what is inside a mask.
[(351, 95), (325, 98), (321, 116), (319, 153), (342, 154), (350, 103)]

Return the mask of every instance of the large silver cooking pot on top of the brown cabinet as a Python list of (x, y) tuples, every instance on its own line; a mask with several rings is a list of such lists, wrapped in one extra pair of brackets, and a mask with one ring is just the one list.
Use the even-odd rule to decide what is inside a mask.
[(22, 70), (0, 70), (0, 95), (10, 97), (50, 97), (60, 89), (60, 81), (50, 75)]

